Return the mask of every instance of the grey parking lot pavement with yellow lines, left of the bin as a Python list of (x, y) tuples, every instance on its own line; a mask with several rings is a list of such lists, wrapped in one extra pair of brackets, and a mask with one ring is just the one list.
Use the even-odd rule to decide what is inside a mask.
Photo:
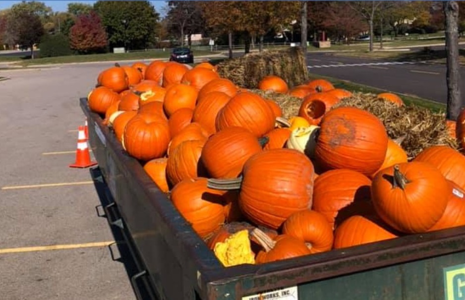
[[(129, 264), (112, 260), (106, 246), (27, 248), (118, 240), (96, 214), (100, 199), (92, 183), (58, 185), (91, 181), (88, 169), (68, 165), (75, 160), (72, 130), (85, 120), (78, 98), (101, 69), (0, 71), (11, 77), (0, 82), (0, 299), (135, 299)], [(61, 151), (70, 153), (43, 154)], [(36, 184), (57, 185), (30, 186)], [(15, 188), (21, 185), (29, 186)], [(11, 248), (21, 252), (5, 250)]]

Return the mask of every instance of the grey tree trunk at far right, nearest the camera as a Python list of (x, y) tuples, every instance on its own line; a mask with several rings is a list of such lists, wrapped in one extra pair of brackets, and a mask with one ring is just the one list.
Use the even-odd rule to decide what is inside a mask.
[(447, 54), (447, 114), (446, 119), (457, 120), (464, 103), (460, 99), (459, 64), (459, 4), (457, 1), (443, 1), (446, 25)]

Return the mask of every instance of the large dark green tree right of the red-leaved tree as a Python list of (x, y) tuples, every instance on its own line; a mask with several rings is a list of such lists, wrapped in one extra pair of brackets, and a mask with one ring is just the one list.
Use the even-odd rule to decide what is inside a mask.
[(143, 49), (155, 42), (159, 14), (149, 1), (97, 1), (94, 9), (105, 26), (110, 47)]

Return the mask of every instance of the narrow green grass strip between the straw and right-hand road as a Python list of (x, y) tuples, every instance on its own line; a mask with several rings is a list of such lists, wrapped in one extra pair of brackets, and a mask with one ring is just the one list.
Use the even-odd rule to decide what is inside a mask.
[[(309, 73), (310, 79), (326, 79), (333, 83), (333, 85), (337, 88), (342, 88), (346, 89), (348, 91), (353, 91), (353, 92), (361, 92), (361, 93), (371, 93), (371, 94), (379, 94), (383, 92), (388, 92), (383, 89), (378, 89), (374, 88), (371, 86), (366, 86), (363, 84), (358, 84), (358, 83), (353, 83), (348, 80), (340, 80), (336, 79), (333, 77), (327, 77), (327, 76), (322, 76), (318, 74), (312, 74)], [(421, 106), (427, 109), (430, 109), (434, 112), (444, 112), (446, 110), (446, 105), (442, 103), (437, 103), (434, 101), (426, 100), (423, 98), (416, 97), (414, 95), (406, 95), (406, 94), (401, 94), (401, 93), (396, 93), (398, 94), (403, 100), (406, 105), (416, 105), (416, 106)]]

